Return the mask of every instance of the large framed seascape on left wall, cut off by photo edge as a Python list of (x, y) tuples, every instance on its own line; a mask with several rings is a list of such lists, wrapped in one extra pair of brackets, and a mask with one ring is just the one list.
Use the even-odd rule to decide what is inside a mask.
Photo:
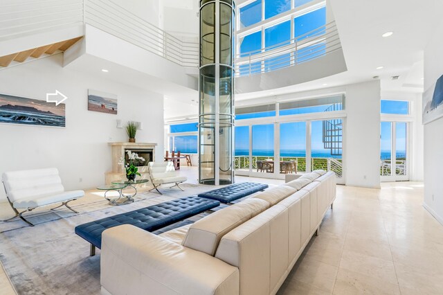
[(65, 127), (65, 105), (0, 93), (0, 123)]

